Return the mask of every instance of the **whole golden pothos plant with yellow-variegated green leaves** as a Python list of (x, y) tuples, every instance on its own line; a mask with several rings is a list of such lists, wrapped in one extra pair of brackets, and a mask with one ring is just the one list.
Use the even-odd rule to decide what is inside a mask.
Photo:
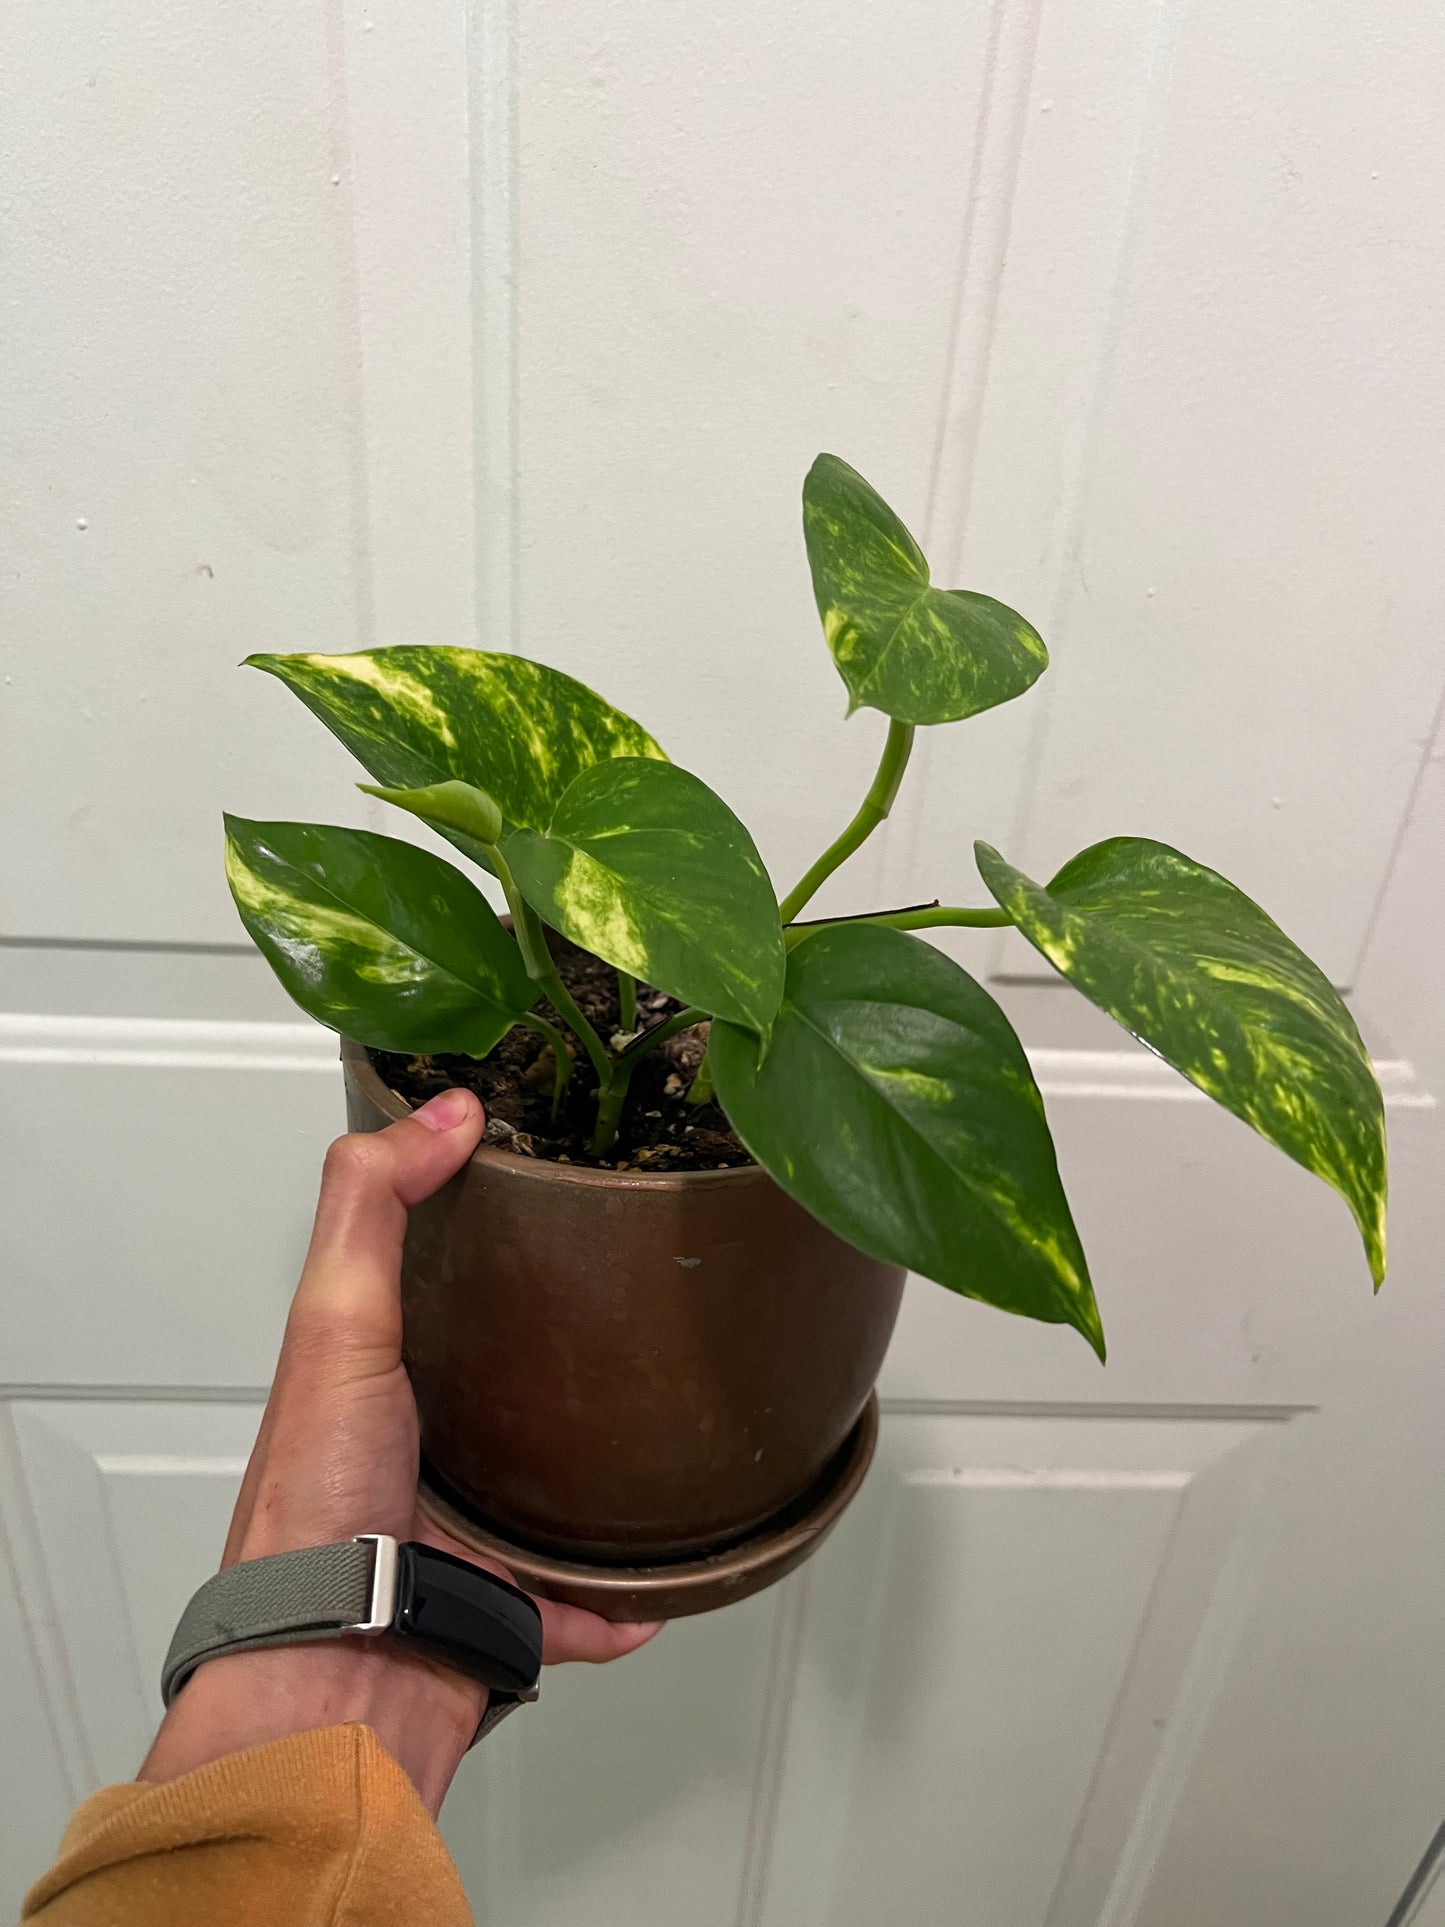
[[(888, 736), (854, 821), (778, 902), (728, 805), (570, 676), (486, 649), (252, 655), (376, 779), (362, 784), (501, 883), (512, 931), (426, 850), (366, 831), (227, 817), (241, 917), (291, 996), (362, 1044), (486, 1056), (539, 1031), (595, 1089), (593, 1150), (640, 1058), (711, 1017), (709, 1085), (751, 1156), (861, 1251), (1012, 1312), (1104, 1333), (1029, 1062), (1004, 1012), (919, 933), (1013, 925), (1087, 998), (1331, 1183), (1385, 1270), (1379, 1087), (1343, 1002), (1241, 890), (1166, 844), (1114, 836), (1035, 883), (975, 844), (986, 908), (800, 921), (888, 815), (919, 728), (1023, 696), (1048, 667), (1002, 603), (938, 590), (846, 462), (803, 484), (823, 632), (850, 715)], [(543, 929), (618, 973), (603, 1041)], [(684, 1006), (638, 1031), (638, 979)], [(551, 1008), (570, 1031), (538, 1006)]]

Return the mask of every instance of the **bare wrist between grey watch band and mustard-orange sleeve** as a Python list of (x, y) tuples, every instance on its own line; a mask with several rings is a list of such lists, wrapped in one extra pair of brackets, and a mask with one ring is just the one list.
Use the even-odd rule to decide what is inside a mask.
[(179, 1779), (225, 1754), (358, 1721), (435, 1815), (486, 1705), (486, 1686), (385, 1636), (227, 1653), (175, 1696), (139, 1779)]

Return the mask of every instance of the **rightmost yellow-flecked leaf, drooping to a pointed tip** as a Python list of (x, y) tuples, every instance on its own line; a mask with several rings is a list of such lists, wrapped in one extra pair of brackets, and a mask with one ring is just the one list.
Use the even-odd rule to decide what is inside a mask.
[(1075, 989), (1341, 1193), (1385, 1276), (1385, 1108), (1351, 1014), (1218, 871), (1112, 836), (1044, 888), (979, 844), (979, 871)]

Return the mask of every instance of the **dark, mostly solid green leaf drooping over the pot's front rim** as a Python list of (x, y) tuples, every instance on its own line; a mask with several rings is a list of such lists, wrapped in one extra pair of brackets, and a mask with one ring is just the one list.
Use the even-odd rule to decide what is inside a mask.
[(940, 950), (823, 927), (757, 1039), (713, 1025), (717, 1095), (757, 1162), (850, 1245), (1025, 1318), (1104, 1332), (1029, 1060)]

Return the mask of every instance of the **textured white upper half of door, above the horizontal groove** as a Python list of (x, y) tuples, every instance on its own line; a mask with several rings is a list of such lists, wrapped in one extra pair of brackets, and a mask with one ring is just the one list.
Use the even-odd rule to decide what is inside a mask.
[(12, 931), (233, 938), (222, 805), (366, 819), (249, 647), (514, 642), (792, 875), (879, 740), (801, 561), (832, 445), (1056, 657), (834, 898), (1152, 832), (1349, 981), (1439, 694), (1430, 10), (52, 19), (6, 102)]

